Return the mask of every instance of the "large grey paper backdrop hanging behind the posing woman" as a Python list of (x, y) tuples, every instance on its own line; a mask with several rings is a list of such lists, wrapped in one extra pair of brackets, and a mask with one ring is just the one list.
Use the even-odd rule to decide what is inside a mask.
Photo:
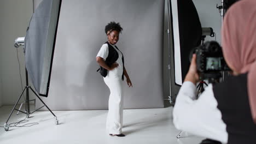
[(63, 0), (49, 97), (42, 98), (51, 110), (107, 109), (109, 89), (96, 73), (95, 57), (107, 40), (104, 26), (110, 21), (124, 28), (117, 46), (133, 83), (133, 88), (123, 83), (124, 108), (164, 106), (164, 0)]

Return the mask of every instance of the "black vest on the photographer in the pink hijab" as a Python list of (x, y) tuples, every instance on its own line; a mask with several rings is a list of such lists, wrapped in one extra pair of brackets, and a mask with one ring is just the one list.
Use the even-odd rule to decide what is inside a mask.
[(247, 93), (247, 74), (230, 76), (213, 85), (214, 97), (228, 132), (228, 144), (256, 143), (256, 124), (253, 123)]

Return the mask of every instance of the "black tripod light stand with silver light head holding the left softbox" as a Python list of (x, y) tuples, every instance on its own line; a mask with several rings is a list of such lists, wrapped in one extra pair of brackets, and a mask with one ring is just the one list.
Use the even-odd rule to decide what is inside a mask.
[[(24, 46), (24, 39), (25, 39), (25, 38), (18, 38), (18, 39), (16, 39), (14, 46), (15, 46), (15, 47)], [(26, 69), (26, 67), (25, 67), (25, 69)], [(29, 95), (29, 89), (30, 89), (30, 90), (37, 96), (37, 98), (44, 104), (43, 106), (39, 107), (37, 110), (34, 110), (34, 111), (32, 111), (32, 112), (30, 111), (30, 101), (31, 101), (31, 100), (30, 100), (30, 95)], [(23, 95), (23, 93), (25, 92), (25, 90), (26, 90), (26, 99), (25, 99), (25, 107), (26, 107), (26, 108), (25, 108), (25, 111), (21, 111), (20, 109), (18, 110), (18, 109), (16, 109), (15, 107), (16, 107), (17, 104), (19, 103), (20, 98), (22, 97), (22, 95)], [(9, 126), (9, 124), (8, 124), (8, 121), (9, 121), (11, 115), (13, 114), (13, 111), (14, 111), (14, 110), (26, 114), (26, 117), (29, 118), (29, 116), (30, 116), (32, 113), (38, 111), (39, 109), (42, 109), (44, 106), (46, 106), (46, 108), (47, 108), (47, 109), (51, 112), (51, 114), (53, 114), (53, 116), (55, 117), (55, 124), (56, 124), (56, 125), (59, 124), (59, 121), (58, 121), (57, 117), (54, 115), (54, 113), (49, 109), (49, 107), (44, 103), (44, 101), (39, 97), (39, 95), (31, 88), (31, 86), (29, 86), (29, 84), (28, 84), (28, 73), (27, 73), (27, 69), (26, 69), (26, 86), (25, 86), (25, 88), (23, 89), (23, 91), (21, 92), (19, 99), (16, 101), (16, 103), (15, 103), (15, 105), (14, 105), (14, 107), (13, 107), (13, 110), (11, 110), (11, 112), (10, 112), (10, 115), (9, 115), (8, 119), (7, 119), (7, 121), (6, 121), (5, 124), (4, 124), (4, 130), (5, 130), (5, 131), (8, 131), (8, 130), (9, 130), (9, 127), (10, 127), (10, 126)], [(20, 108), (21, 108), (21, 107), (20, 107)], [(18, 113), (17, 113), (17, 115), (18, 115)]]

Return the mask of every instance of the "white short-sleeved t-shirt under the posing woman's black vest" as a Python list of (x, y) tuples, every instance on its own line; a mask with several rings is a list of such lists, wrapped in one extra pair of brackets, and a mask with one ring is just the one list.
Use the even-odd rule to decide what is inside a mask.
[[(110, 44), (111, 45), (111, 44)], [(114, 78), (122, 78), (123, 75), (123, 61), (122, 61), (122, 53), (115, 48), (114, 45), (112, 45), (114, 47), (114, 49), (118, 52), (118, 59), (116, 61), (116, 63), (118, 63), (118, 67), (114, 68), (113, 70), (108, 70), (108, 74), (106, 77), (104, 77), (104, 79), (114, 79)], [(100, 51), (98, 51), (98, 54), (96, 57), (102, 57), (104, 59), (104, 61), (106, 61), (106, 58), (108, 57), (108, 44), (103, 44), (101, 46)]]

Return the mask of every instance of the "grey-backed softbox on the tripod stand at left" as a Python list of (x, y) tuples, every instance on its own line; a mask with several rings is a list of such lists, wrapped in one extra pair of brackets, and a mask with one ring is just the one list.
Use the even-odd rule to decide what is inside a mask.
[(61, 0), (43, 0), (25, 37), (26, 69), (37, 93), (48, 97)]

